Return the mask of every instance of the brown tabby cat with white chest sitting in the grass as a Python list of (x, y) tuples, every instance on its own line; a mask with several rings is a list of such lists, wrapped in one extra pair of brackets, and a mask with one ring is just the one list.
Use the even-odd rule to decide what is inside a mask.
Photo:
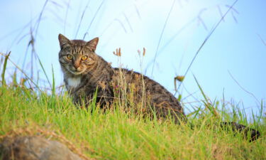
[[(127, 88), (124, 91), (129, 95), (133, 92), (134, 103), (142, 102), (141, 111), (150, 115), (155, 114), (157, 119), (170, 117), (176, 124), (187, 123), (182, 105), (165, 87), (133, 70), (112, 68), (104, 58), (97, 55), (95, 50), (99, 38), (91, 41), (69, 40), (59, 34), (58, 39), (59, 61), (67, 91), (72, 96), (74, 104), (89, 105), (96, 93), (96, 102), (101, 107), (110, 106), (116, 98), (123, 98), (121, 92), (126, 84)], [(245, 134), (250, 130), (251, 140), (260, 136), (260, 132), (255, 129), (235, 122), (221, 122), (221, 127), (225, 126), (244, 131)]]

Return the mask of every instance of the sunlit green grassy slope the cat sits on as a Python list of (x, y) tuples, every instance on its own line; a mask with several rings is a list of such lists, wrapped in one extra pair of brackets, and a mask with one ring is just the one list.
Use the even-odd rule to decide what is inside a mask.
[(22, 87), (0, 87), (0, 136), (42, 132), (89, 159), (266, 158), (265, 117), (256, 126), (262, 139), (253, 143), (240, 134), (215, 129), (214, 120), (211, 114), (190, 118), (199, 122), (192, 130), (188, 125), (142, 119), (119, 110), (78, 110), (66, 96), (44, 93), (36, 97)]

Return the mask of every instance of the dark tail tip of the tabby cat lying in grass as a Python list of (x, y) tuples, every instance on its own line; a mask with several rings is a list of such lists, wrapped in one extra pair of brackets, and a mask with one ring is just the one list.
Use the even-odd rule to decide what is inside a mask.
[(235, 122), (221, 122), (220, 126), (223, 129), (231, 128), (235, 132), (243, 133), (246, 139), (250, 139), (250, 142), (253, 142), (260, 137), (260, 132), (258, 132), (257, 130)]

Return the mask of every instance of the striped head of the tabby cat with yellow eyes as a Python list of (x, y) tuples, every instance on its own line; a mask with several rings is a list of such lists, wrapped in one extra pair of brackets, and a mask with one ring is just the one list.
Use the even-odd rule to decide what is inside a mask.
[(91, 41), (69, 40), (62, 34), (58, 35), (60, 43), (59, 61), (63, 72), (81, 75), (92, 70), (98, 57), (94, 52), (99, 38)]

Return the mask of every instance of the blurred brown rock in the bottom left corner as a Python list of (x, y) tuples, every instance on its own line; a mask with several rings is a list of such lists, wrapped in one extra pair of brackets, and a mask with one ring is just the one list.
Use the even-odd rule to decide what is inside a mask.
[(0, 144), (3, 160), (82, 160), (60, 142), (43, 137), (6, 137)]

